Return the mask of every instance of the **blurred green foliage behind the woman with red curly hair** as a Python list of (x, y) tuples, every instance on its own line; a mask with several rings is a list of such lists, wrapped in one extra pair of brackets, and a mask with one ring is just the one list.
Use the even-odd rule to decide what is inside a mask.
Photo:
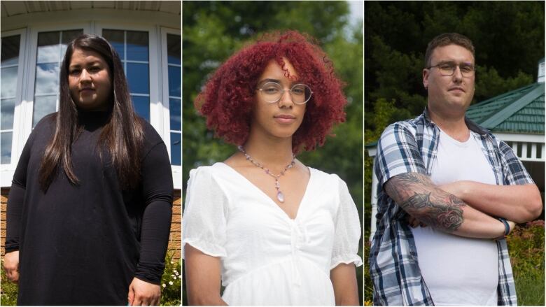
[[(214, 138), (193, 102), (211, 73), (242, 45), (272, 30), (294, 29), (314, 36), (345, 83), (346, 122), (314, 152), (298, 155), (307, 166), (345, 180), (360, 220), (363, 214), (363, 24), (356, 3), (346, 1), (183, 1), (183, 189), (190, 169), (221, 162), (235, 146)], [(360, 2), (361, 5), (361, 2)], [(353, 14), (351, 15), (351, 6)], [(362, 239), (361, 239), (362, 242)], [(359, 255), (363, 250), (360, 243)], [(360, 304), (363, 267), (357, 268)], [(187, 304), (184, 291), (183, 304)]]

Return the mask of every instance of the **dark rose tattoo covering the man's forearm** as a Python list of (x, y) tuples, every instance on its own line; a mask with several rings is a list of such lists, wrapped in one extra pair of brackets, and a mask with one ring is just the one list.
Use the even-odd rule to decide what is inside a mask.
[(451, 232), (463, 224), (466, 204), (437, 188), (425, 175), (394, 176), (385, 184), (385, 192), (407, 213), (432, 227)]

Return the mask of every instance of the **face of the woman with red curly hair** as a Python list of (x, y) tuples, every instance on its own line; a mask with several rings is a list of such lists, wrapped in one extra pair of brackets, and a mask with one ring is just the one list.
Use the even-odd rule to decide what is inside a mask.
[[(286, 78), (285, 71), (281, 66), (271, 60), (258, 80), (257, 87), (262, 90), (257, 90), (255, 94), (251, 133), (260, 132), (276, 138), (290, 138), (302, 124), (305, 104), (295, 103), (292, 97), (297, 95), (290, 95), (290, 89), (300, 83), (297, 81), (297, 72), (288, 59), (283, 58), (283, 61), (285, 68), (290, 73), (290, 79)], [(265, 83), (281, 85), (284, 92), (282, 92), (279, 101), (271, 103), (266, 100), (267, 96), (264, 93), (268, 89), (264, 87)]]

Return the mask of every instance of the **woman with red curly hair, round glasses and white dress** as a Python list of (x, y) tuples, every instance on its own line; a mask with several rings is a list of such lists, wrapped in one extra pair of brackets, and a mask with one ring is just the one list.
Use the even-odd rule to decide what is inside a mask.
[(337, 175), (295, 158), (323, 145), (345, 104), (328, 57), (296, 31), (264, 36), (214, 73), (196, 106), (239, 151), (190, 171), (190, 305), (358, 305), (356, 206)]

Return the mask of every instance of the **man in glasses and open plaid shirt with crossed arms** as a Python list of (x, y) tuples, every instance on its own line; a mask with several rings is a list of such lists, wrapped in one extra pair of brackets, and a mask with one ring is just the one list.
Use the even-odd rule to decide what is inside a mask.
[(423, 85), (423, 114), (391, 124), (377, 145), (374, 305), (517, 305), (503, 237), (540, 215), (542, 200), (512, 149), (465, 118), (470, 39), (433, 38)]

